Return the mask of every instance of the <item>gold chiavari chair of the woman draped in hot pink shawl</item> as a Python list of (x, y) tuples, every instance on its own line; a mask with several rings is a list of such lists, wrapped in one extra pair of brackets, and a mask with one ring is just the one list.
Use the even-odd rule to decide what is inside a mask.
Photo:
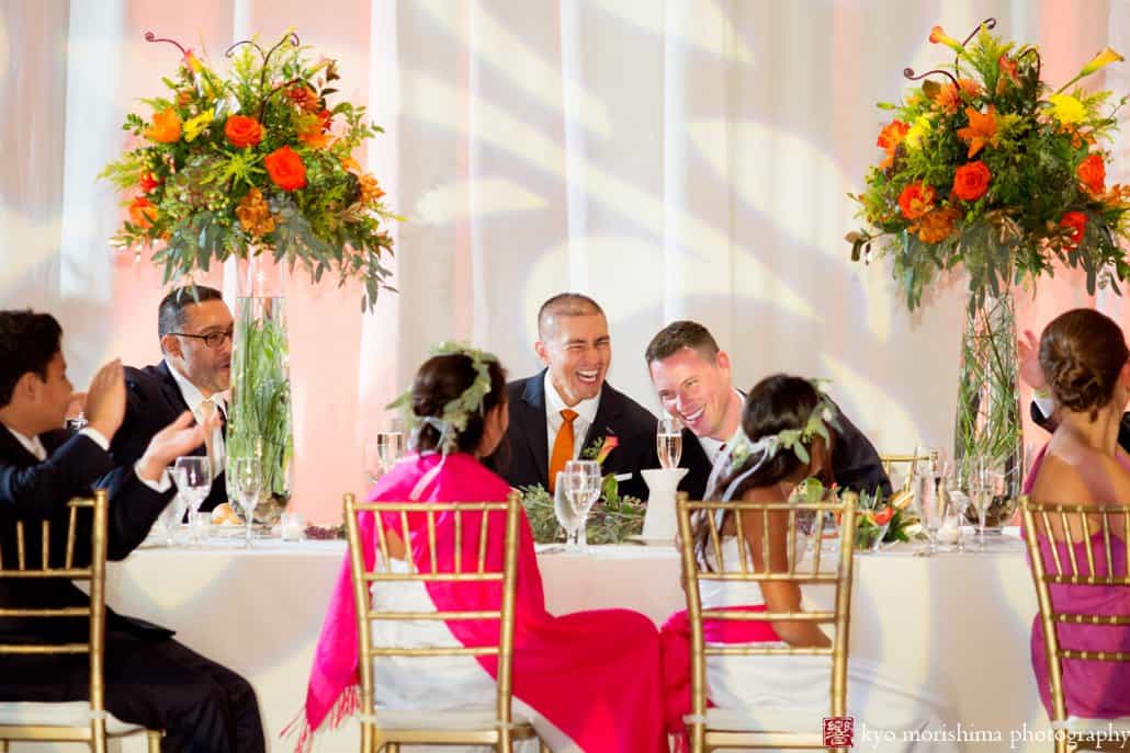
[[(353, 571), (354, 598), (357, 604), (357, 630), (360, 646), (360, 708), (362, 708), (362, 753), (399, 753), (402, 744), (429, 745), (493, 745), (498, 753), (511, 753), (516, 739), (537, 739), (533, 726), (524, 719), (513, 717), (513, 656), (514, 656), (514, 584), (518, 572), (519, 515), (521, 502), (518, 493), (511, 493), (505, 502), (357, 502), (353, 494), (345, 496), (346, 526), (349, 535), (349, 560)], [(371, 513), (374, 517), (375, 542), (379, 551), (372, 572), (365, 571), (362, 551), (358, 515)], [(431, 567), (423, 571), (412, 558), (411, 548), (405, 545), (407, 571), (392, 567), (389, 536), (382, 522), (382, 514), (398, 516), (400, 531), (408, 531), (409, 515), (426, 515), (428, 532), (428, 561)], [(464, 516), (478, 513), (479, 525), (463, 526)], [(492, 569), (487, 563), (488, 541), (487, 518), (490, 513), (506, 515), (504, 558), (502, 569)], [(450, 514), (454, 525), (454, 557), (450, 571), (438, 569), (436, 562), (436, 520)], [(393, 531), (394, 533), (394, 531)], [(398, 534), (399, 535), (399, 534)], [(477, 542), (477, 567), (473, 571), (462, 570), (460, 552), (463, 551), (464, 535)], [(497, 542), (494, 542), (497, 545)], [(373, 611), (370, 588), (395, 588), (406, 583), (501, 583), (502, 603), (497, 610), (475, 610), (454, 612), (390, 612)], [(447, 622), (452, 620), (497, 620), (498, 640), (494, 645), (463, 647), (405, 647), (382, 646), (373, 639), (372, 623), (380, 620), (410, 620), (418, 622)], [(479, 711), (401, 711), (381, 709), (375, 703), (375, 668), (373, 660), (382, 656), (398, 657), (450, 657), (450, 656), (496, 656), (498, 657), (497, 693), (493, 709)], [(421, 663), (423, 665), (423, 663)], [(421, 666), (426, 671), (426, 666)], [(437, 678), (442, 682), (442, 678)], [(549, 747), (540, 743), (542, 753)]]

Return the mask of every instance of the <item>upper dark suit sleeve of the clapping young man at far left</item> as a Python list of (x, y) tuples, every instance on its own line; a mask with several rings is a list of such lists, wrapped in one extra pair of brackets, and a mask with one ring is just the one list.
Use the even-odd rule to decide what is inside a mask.
[(70, 498), (89, 493), (94, 481), (111, 467), (110, 455), (82, 435), (68, 439), (37, 465), (19, 467), (0, 459), (0, 506), (21, 518), (50, 517)]

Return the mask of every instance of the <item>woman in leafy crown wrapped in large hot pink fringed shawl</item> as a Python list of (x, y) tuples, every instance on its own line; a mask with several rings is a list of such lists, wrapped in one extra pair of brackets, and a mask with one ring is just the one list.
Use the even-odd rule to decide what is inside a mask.
[[(494, 501), (504, 500), (508, 484), (479, 458), (497, 447), (507, 424), (505, 373), (488, 353), (441, 345), (427, 360), (406, 395), (418, 429), (414, 454), (397, 463), (368, 494), (370, 500)], [(490, 558), (501, 561), (504, 516), (490, 514)], [(414, 522), (412, 517), (420, 520)], [(464, 525), (478, 522), (464, 516)], [(427, 567), (425, 516), (409, 516), (407, 545)], [(436, 535), (450, 537), (450, 518), (436, 520)], [(385, 531), (400, 531), (385, 518)], [(372, 516), (360, 520), (366, 567), (373, 567), (375, 535)], [(529, 718), (554, 751), (667, 751), (660, 691), (659, 637), (645, 616), (625, 610), (579, 612), (556, 618), (546, 611), (541, 575), (529, 522), (523, 514), (515, 594), (514, 709)], [(392, 566), (405, 554), (403, 539), (391, 536)], [(453, 557), (452, 546), (437, 548)], [(466, 553), (464, 553), (466, 554)], [(447, 563), (450, 566), (450, 563)], [(441, 562), (441, 567), (444, 563)], [(374, 608), (447, 611), (476, 606), (498, 608), (497, 584), (469, 589), (467, 584), (418, 585), (415, 592), (376, 585)], [(407, 593), (405, 593), (407, 592)], [(336, 726), (357, 710), (357, 630), (348, 557), (334, 586), (329, 613), (311, 672), (305, 726), (299, 750), (308, 750), (312, 733), (329, 719)], [(473, 646), (497, 636), (496, 622), (374, 623), (382, 642)], [(397, 632), (400, 631), (400, 632)], [(409, 641), (406, 643), (406, 641)], [(382, 658), (376, 664), (379, 708), (453, 710), (490, 703), (496, 664), (493, 657), (451, 657), (442, 664)], [(475, 704), (475, 706), (470, 706)], [(407, 748), (406, 748), (407, 750)], [(449, 748), (444, 748), (449, 750)], [(537, 750), (536, 747), (533, 750)]]

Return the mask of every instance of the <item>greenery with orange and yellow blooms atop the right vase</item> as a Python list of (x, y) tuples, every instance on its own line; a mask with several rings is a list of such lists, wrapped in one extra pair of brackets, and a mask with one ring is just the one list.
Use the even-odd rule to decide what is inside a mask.
[[(892, 257), (909, 308), (921, 306), (939, 273), (958, 266), (968, 273), (971, 312), (1057, 260), (1085, 270), (1092, 294), (1118, 290), (1130, 274), (1120, 247), (1130, 240), (1130, 190), (1098, 190), (1079, 175), (1088, 157), (1109, 160), (1099, 145), (1127, 99), (1052, 94), (1040, 70), (1036, 47), (1017, 47), (983, 26), (953, 64), (928, 73), (933, 78), (897, 105), (879, 104), (895, 115), (879, 137), (886, 158), (868, 172), (867, 190), (851, 196), (867, 227), (846, 239), (854, 260), (870, 257), (876, 243)], [(983, 193), (957, 190), (955, 176), (971, 165), (988, 169)], [(901, 205), (915, 190), (931, 199)], [(1078, 237), (1064, 225), (1071, 212), (1086, 220)]]

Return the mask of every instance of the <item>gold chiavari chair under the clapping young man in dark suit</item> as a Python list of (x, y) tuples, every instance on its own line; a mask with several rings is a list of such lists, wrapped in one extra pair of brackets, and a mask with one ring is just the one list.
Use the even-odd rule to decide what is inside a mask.
[[(89, 701), (63, 703), (23, 701), (0, 703), (0, 751), (7, 751), (9, 742), (75, 742), (86, 743), (95, 753), (105, 753), (107, 738), (145, 734), (148, 737), (149, 753), (158, 753), (160, 751), (160, 732), (125, 724), (108, 713), (105, 708), (103, 667), (106, 648), (106, 492), (96, 491), (94, 499), (73, 499), (68, 502), (68, 507), (70, 508), (70, 517), (67, 528), (67, 551), (62, 567), (52, 567), (51, 524), (49, 520), (38, 523), (42, 536), (40, 567), (28, 567), (27, 552), (25, 552), (24, 546), (25, 527), (28, 524), (17, 522), (17, 566), (15, 569), (6, 569), (3, 555), (0, 553), (0, 580), (27, 578), (85, 580), (90, 584), (89, 606), (0, 607), (0, 620), (5, 618), (33, 618), (37, 620), (85, 618), (89, 623), (87, 642), (0, 642), (0, 656), (86, 654), (90, 663), (90, 699)], [(80, 510), (90, 510), (93, 517), (90, 562), (86, 567), (76, 567), (75, 564), (75, 540)], [(0, 633), (0, 641), (2, 639), (3, 636)]]

